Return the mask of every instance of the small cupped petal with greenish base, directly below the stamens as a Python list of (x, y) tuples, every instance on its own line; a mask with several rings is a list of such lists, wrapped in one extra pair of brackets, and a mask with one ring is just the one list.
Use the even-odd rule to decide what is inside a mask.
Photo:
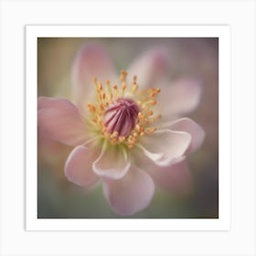
[(130, 159), (123, 146), (103, 145), (101, 155), (92, 164), (93, 171), (98, 176), (120, 179), (129, 170)]

